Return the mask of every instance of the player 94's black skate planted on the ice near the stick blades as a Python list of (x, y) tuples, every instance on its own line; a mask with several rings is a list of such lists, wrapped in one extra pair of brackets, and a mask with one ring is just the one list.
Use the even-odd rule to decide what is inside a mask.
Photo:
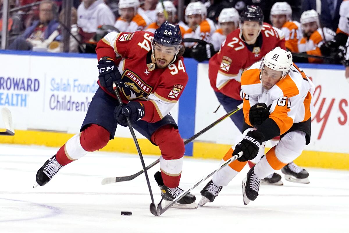
[[(157, 184), (160, 187), (161, 197), (162, 199), (164, 199), (166, 205), (170, 203), (178, 195), (180, 195), (181, 192), (184, 191), (179, 187), (169, 188), (166, 185), (164, 185), (164, 182), (162, 181), (162, 177), (161, 177), (161, 172), (156, 172), (154, 177)], [(172, 205), (172, 207), (179, 208), (179, 209), (197, 209), (198, 205), (195, 203), (195, 200), (196, 200), (195, 196), (190, 192), (188, 192), (184, 197), (182, 197), (174, 205)]]

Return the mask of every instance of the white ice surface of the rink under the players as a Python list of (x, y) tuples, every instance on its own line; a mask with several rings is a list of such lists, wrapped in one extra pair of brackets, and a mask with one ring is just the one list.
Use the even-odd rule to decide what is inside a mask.
[[(141, 169), (138, 155), (95, 152), (70, 163), (45, 186), (32, 188), (35, 174), (57, 148), (0, 144), (0, 232), (349, 232), (349, 172), (309, 168), (310, 184), (262, 185), (256, 201), (243, 204), (247, 166), (213, 203), (196, 210), (149, 212), (144, 174), (133, 181), (101, 185), (109, 176)], [(146, 164), (156, 160), (144, 156)], [(217, 167), (217, 160), (185, 158), (185, 189)], [(161, 197), (149, 170), (155, 202)], [(205, 181), (193, 190), (197, 202)], [(132, 216), (121, 216), (132, 211)]]

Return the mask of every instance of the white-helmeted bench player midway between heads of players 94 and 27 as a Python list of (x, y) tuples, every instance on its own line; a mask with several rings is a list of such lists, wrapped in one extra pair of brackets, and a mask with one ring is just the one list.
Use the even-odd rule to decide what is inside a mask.
[[(207, 10), (202, 2), (191, 2), (185, 8), (185, 20), (189, 29), (183, 35), (183, 38), (196, 38), (209, 42), (211, 35), (216, 30), (215, 23), (207, 19)], [(185, 43), (186, 47), (192, 44)]]

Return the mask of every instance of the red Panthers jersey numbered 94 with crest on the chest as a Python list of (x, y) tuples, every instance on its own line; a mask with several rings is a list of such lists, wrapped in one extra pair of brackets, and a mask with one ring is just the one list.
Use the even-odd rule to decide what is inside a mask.
[(147, 31), (110, 32), (96, 48), (98, 60), (101, 57), (114, 59), (122, 81), (131, 89), (130, 96), (120, 92), (122, 101), (143, 103), (145, 115), (142, 120), (150, 123), (161, 120), (170, 112), (188, 81), (183, 57), (162, 69), (151, 61), (153, 35)]

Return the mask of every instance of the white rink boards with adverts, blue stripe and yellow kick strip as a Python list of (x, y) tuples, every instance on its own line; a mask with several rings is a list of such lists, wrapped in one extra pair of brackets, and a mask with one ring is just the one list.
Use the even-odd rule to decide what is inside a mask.
[[(0, 108), (12, 111), (16, 134), (1, 143), (61, 146), (78, 133), (98, 85), (95, 55), (0, 52)], [(183, 138), (190, 138), (225, 114), (208, 80), (208, 64), (185, 59), (188, 85), (171, 114)], [(349, 169), (349, 83), (341, 65), (299, 64), (315, 84), (312, 141), (297, 159), (301, 166)], [(0, 123), (3, 128), (3, 123)], [(230, 119), (186, 146), (186, 155), (221, 159), (239, 131)], [(144, 154), (158, 148), (137, 134)], [(269, 145), (270, 146), (270, 145)], [(103, 149), (136, 153), (127, 128)]]

